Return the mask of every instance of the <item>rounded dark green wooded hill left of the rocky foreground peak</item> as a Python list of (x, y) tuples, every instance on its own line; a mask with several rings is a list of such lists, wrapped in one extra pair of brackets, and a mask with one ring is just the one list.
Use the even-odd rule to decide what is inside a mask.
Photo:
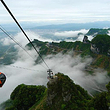
[(10, 96), (13, 106), (7, 108), (7, 110), (28, 110), (41, 99), (45, 89), (44, 86), (29, 86), (24, 84), (17, 86)]

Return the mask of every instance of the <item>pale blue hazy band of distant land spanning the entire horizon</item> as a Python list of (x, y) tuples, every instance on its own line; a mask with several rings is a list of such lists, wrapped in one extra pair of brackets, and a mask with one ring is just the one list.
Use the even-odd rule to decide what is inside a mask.
[[(89, 23), (66, 23), (66, 24), (39, 24), (33, 22), (21, 22), (22, 28), (25, 30), (57, 30), (57, 31), (71, 31), (90, 28), (108, 28), (110, 27), (110, 21), (97, 21)], [(11, 34), (19, 32), (19, 28), (14, 23), (2, 24), (2, 26)]]

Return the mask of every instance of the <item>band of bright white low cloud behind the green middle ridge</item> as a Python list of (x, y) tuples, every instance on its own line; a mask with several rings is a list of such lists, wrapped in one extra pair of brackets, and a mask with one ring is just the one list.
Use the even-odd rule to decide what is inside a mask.
[[(31, 41), (33, 41), (34, 39), (38, 39), (39, 41), (43, 41), (43, 42), (60, 42), (63, 39), (67, 42), (75, 42), (75, 41), (83, 41), (84, 35), (87, 32), (88, 30), (86, 29), (81, 29), (78, 31), (62, 31), (62, 32), (53, 32), (53, 33), (47, 32), (49, 36), (54, 36), (51, 38), (43, 37), (45, 36), (45, 31), (43, 32), (43, 30), (42, 30), (43, 36), (33, 31), (26, 31), (26, 34), (29, 36)], [(11, 36), (11, 37), (23, 47), (25, 47), (26, 44), (29, 43), (29, 41), (22, 32), (17, 33), (15, 36)], [(93, 37), (88, 36), (88, 39), (91, 41)], [(0, 43), (4, 46), (15, 44), (15, 42), (13, 42), (9, 37), (2, 38), (0, 40)]]

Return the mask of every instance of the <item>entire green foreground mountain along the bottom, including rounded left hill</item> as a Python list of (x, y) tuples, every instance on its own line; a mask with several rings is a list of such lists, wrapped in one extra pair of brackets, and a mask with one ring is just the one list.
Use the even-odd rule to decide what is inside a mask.
[[(47, 88), (21, 84), (11, 93), (11, 104), (6, 110), (108, 110), (110, 104), (110, 83), (108, 92), (91, 97), (68, 76), (58, 73), (49, 79)], [(2, 107), (6, 103), (2, 104)], [(4, 108), (2, 108), (4, 109)]]

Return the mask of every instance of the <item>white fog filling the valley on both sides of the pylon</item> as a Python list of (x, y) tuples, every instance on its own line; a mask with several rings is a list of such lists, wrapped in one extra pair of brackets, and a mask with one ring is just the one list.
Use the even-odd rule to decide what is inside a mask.
[[(52, 41), (51, 39), (43, 39), (42, 36), (34, 32), (29, 31), (27, 34), (30, 36), (31, 40), (38, 39), (41, 41)], [(16, 34), (13, 38), (17, 39), (17, 42), (19, 42), (24, 48), (28, 43), (22, 33)], [(1, 42), (2, 45), (13, 44), (13, 42), (8, 38), (1, 39)], [(0, 66), (0, 71), (7, 77), (5, 84), (2, 88), (0, 88), (0, 103), (9, 99), (11, 92), (19, 84), (24, 83), (27, 85), (46, 86), (48, 82), (46, 65), (43, 62), (35, 64), (35, 60), (38, 57), (35, 50), (27, 50), (27, 52), (31, 55), (30, 57), (18, 45), (14, 45), (14, 47), (18, 50), (16, 61), (14, 61), (11, 65)], [(70, 51), (65, 55), (58, 53), (57, 55), (45, 56), (44, 60), (49, 68), (52, 69), (54, 74), (60, 72), (68, 75), (76, 84), (81, 85), (89, 92), (91, 92), (93, 88), (105, 90), (105, 87), (101, 85), (108, 83), (109, 81), (107, 72), (96, 69), (93, 76), (88, 75), (87, 72), (85, 72), (85, 67), (90, 65), (93, 59), (90, 57), (82, 59), (80, 56), (73, 56), (74, 51)]]

